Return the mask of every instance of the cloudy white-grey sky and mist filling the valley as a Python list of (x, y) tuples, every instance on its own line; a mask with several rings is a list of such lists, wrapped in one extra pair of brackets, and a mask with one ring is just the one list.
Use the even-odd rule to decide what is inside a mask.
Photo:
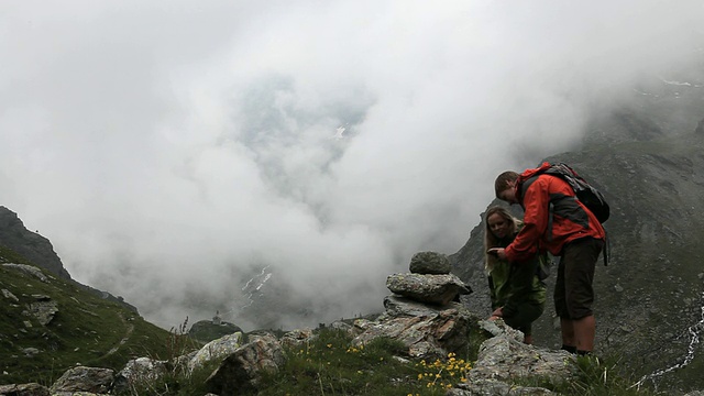
[(252, 265), (380, 310), (415, 252), (465, 243), (497, 173), (701, 54), (703, 7), (2, 1), (0, 205), (165, 328)]

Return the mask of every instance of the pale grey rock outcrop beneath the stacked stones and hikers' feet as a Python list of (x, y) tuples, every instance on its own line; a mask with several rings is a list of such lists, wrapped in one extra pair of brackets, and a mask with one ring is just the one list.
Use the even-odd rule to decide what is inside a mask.
[(384, 307), (386, 311), (376, 321), (355, 321), (362, 333), (353, 343), (364, 344), (380, 337), (391, 338), (403, 342), (410, 356), (441, 359), (448, 353), (464, 350), (472, 331), (486, 334), (488, 339), (480, 346), (479, 359), (466, 381), (458, 384), (448, 395), (551, 395), (546, 388), (520, 387), (513, 385), (513, 382), (540, 377), (558, 384), (578, 373), (572, 354), (527, 345), (522, 343), (524, 334), (520, 331), (502, 320), (482, 320), (460, 302), (438, 305), (426, 296), (409, 298), (393, 295), (384, 299)]

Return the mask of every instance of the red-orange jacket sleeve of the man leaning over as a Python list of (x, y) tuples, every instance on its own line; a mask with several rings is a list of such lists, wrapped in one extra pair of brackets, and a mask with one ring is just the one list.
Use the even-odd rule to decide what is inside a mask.
[(538, 253), (538, 242), (548, 228), (549, 216), (549, 176), (538, 176), (525, 191), (524, 227), (514, 242), (506, 248), (506, 257), (510, 262), (525, 262)]

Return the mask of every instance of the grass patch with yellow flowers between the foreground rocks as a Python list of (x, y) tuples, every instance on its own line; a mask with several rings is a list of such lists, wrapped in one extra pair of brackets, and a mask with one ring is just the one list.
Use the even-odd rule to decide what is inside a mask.
[(258, 395), (444, 395), (470, 367), (454, 354), (411, 360), (403, 343), (386, 338), (366, 345), (351, 341), (343, 331), (323, 329), (309, 343), (287, 349), (285, 367), (266, 375)]

